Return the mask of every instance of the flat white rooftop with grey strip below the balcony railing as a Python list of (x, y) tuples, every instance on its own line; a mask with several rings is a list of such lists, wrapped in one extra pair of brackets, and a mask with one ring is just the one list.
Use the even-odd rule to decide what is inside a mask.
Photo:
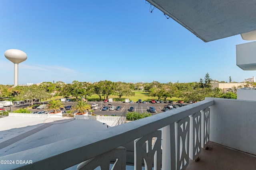
[[(109, 127), (111, 128), (111, 127)], [(99, 121), (74, 118), (0, 118), (0, 156), (32, 149), (86, 132), (107, 130)]]

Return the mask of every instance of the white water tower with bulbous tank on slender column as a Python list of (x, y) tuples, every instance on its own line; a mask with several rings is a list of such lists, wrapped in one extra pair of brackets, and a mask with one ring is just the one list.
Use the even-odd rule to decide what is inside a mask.
[(21, 50), (9, 49), (4, 52), (6, 59), (14, 63), (14, 87), (18, 85), (18, 64), (25, 61), (28, 56)]

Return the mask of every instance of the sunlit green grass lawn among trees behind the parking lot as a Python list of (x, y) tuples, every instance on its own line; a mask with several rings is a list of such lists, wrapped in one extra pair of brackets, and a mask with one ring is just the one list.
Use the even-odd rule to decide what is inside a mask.
[[(152, 97), (152, 96), (148, 96), (148, 92), (142, 92), (142, 91), (134, 91), (135, 96), (122, 96), (121, 101), (124, 101), (126, 98), (129, 98), (129, 100), (132, 100), (133, 102), (138, 101), (139, 99), (141, 99), (142, 101), (146, 101), (149, 102), (151, 101), (151, 99), (155, 99), (158, 100), (158, 98), (156, 97)], [(108, 98), (113, 98), (114, 101), (119, 101), (119, 97), (118, 96), (108, 96)], [(93, 94), (92, 96), (88, 96), (86, 97), (86, 99), (88, 101), (99, 101), (100, 97), (96, 94)], [(104, 96), (102, 97), (102, 100), (104, 100)], [(164, 100), (164, 99), (160, 99), (160, 100)], [(180, 100), (179, 98), (173, 97), (173, 98), (167, 98), (166, 100), (172, 100), (172, 101), (178, 101)]]

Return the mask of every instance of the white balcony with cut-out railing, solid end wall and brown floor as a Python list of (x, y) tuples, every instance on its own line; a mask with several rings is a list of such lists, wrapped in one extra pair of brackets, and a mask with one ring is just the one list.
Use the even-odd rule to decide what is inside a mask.
[[(0, 157), (1, 169), (255, 169), (256, 102), (204, 101)], [(160, 140), (161, 139), (161, 140)], [(11, 167), (11, 168), (10, 168)]]

